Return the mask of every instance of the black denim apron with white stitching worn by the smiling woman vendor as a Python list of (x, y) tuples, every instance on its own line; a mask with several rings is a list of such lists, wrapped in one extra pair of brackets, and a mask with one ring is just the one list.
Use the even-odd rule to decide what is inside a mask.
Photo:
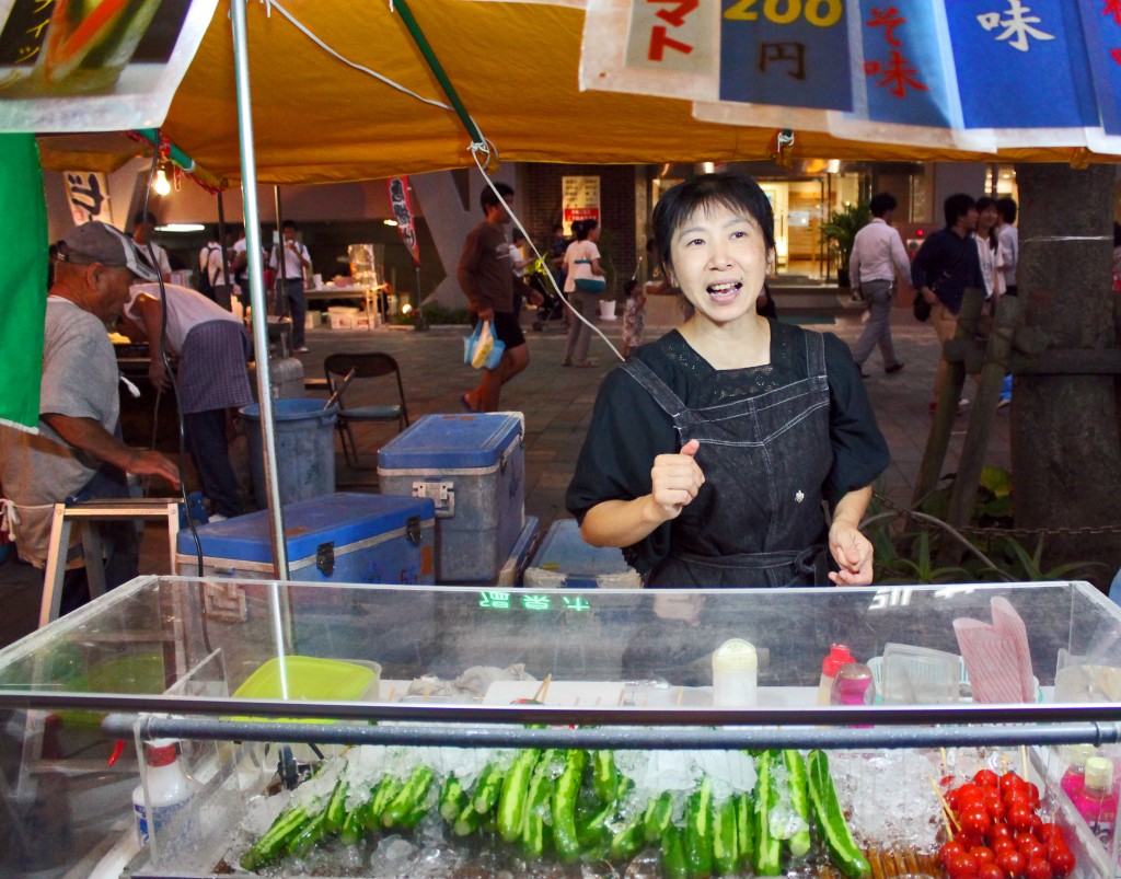
[(648, 586), (828, 585), (822, 485), (833, 465), (825, 344), (805, 333), (806, 376), (732, 403), (689, 409), (649, 367), (623, 369), (697, 440), (705, 483), (673, 521), (670, 554)]

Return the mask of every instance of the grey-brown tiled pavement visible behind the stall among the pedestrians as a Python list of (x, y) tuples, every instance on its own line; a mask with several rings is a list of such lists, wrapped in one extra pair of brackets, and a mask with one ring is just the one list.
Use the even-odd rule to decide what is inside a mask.
[[(781, 307), (781, 302), (779, 303)], [(530, 320), (531, 312), (526, 316)], [(601, 323), (601, 329), (617, 345), (619, 322)], [(521, 411), (526, 417), (526, 512), (547, 528), (564, 509), (564, 492), (572, 475), (576, 456), (587, 429), (596, 388), (603, 374), (615, 361), (614, 354), (599, 339), (593, 341), (592, 369), (560, 367), (564, 334), (557, 322), (538, 333), (527, 329), (530, 346), (529, 367), (507, 386), (502, 408)], [(841, 316), (832, 325), (807, 325), (809, 330), (827, 330), (846, 342), (854, 342), (862, 324), (853, 316)], [(647, 339), (665, 327), (647, 327)], [(867, 388), (891, 448), (892, 463), (884, 476), (884, 490), (896, 501), (906, 503), (927, 434), (930, 427), (928, 401), (934, 381), (937, 343), (927, 325), (917, 324), (909, 308), (897, 308), (892, 318), (896, 349), (907, 367), (888, 376), (882, 370), (879, 353), (873, 353), (867, 367), (872, 372)], [(409, 414), (415, 420), (429, 413), (462, 411), (460, 395), (471, 388), (476, 373), (463, 364), (462, 327), (437, 327), (426, 333), (411, 330), (378, 330), (373, 332), (340, 332), (313, 330), (307, 334), (311, 353), (302, 354), (305, 376), (322, 374), (323, 359), (334, 351), (379, 350), (392, 354), (401, 364)], [(970, 390), (966, 390), (970, 396)], [(355, 383), (348, 398), (352, 405), (374, 398), (371, 390)], [(990, 444), (989, 463), (1008, 466), (1008, 410), (998, 413)], [(957, 453), (964, 440), (969, 417), (956, 419), (949, 456), (944, 472), (956, 469)], [(380, 425), (355, 429), (363, 453), (362, 470), (346, 466), (341, 452), (336, 455), (340, 490), (376, 490), (377, 448), (395, 435), (392, 427)], [(336, 444), (337, 448), (337, 444)], [(166, 537), (149, 526), (145, 534), (142, 572), (166, 573)], [(0, 598), (10, 612), (0, 618), (0, 645), (21, 637), (35, 624), (38, 613), (41, 577), (27, 565), (9, 561), (0, 566)]]

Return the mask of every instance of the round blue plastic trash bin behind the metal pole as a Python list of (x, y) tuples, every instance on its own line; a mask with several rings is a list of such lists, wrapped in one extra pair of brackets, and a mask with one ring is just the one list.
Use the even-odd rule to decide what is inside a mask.
[[(272, 433), (276, 437), (280, 503), (322, 498), (335, 491), (335, 418), (339, 407), (323, 408), (323, 400), (280, 399), (272, 401)], [(261, 509), (265, 492), (265, 444), (261, 440), (261, 407), (241, 408), (249, 435), (253, 498)]]

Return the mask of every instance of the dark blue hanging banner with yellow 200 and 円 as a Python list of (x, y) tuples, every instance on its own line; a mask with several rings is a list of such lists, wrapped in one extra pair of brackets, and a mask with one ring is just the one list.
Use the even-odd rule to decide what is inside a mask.
[(723, 0), (722, 8), (721, 100), (852, 110), (843, 0)]

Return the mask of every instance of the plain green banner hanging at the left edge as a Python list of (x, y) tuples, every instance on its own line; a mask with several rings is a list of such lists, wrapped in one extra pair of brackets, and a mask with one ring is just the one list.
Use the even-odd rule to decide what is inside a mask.
[(43, 322), (47, 308), (47, 203), (34, 135), (0, 135), (0, 423), (39, 424)]

